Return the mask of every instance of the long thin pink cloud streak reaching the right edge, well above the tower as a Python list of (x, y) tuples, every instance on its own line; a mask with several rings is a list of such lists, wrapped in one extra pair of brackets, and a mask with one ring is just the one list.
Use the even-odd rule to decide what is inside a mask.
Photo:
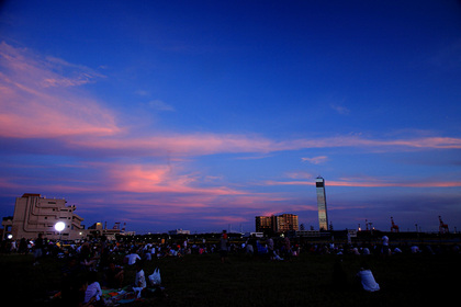
[[(214, 154), (248, 154), (277, 152), (299, 150), (305, 148), (327, 147), (359, 147), (391, 151), (401, 149), (452, 149), (461, 148), (461, 139), (457, 138), (418, 138), (407, 140), (372, 140), (361, 138), (325, 138), (292, 141), (274, 141), (260, 136), (218, 135), (218, 134), (165, 134), (146, 137), (128, 137), (115, 135), (113, 137), (86, 137), (67, 139), (69, 147), (109, 150), (114, 152), (132, 152), (140, 156), (164, 155), (171, 156), (202, 156)], [(325, 162), (328, 158), (319, 156), (303, 158), (312, 163)]]

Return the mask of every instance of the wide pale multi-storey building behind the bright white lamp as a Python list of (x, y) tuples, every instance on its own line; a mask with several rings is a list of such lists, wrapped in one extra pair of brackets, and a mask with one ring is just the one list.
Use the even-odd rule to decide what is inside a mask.
[[(32, 193), (16, 197), (14, 215), (2, 220), (3, 239), (35, 239), (38, 234), (52, 240), (85, 239), (83, 218), (74, 213), (76, 206), (67, 206), (66, 203), (64, 198), (46, 198)], [(58, 221), (65, 224), (61, 231), (55, 229)]]

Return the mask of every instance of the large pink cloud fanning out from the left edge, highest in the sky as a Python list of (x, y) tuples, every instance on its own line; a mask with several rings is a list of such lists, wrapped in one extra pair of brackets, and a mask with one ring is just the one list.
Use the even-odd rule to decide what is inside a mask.
[(71, 76), (63, 76), (57, 65), (64, 64), (0, 44), (0, 136), (106, 136), (121, 130), (112, 112), (75, 88), (101, 76), (70, 65)]

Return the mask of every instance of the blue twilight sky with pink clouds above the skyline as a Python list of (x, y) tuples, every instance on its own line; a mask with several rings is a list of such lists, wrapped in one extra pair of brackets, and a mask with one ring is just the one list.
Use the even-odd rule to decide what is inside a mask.
[(0, 216), (461, 229), (459, 1), (3, 1)]

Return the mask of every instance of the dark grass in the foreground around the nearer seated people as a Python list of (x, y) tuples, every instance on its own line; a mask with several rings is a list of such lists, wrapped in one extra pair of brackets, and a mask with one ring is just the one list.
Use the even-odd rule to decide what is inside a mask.
[[(245, 255), (221, 263), (217, 254), (188, 255), (147, 262), (146, 275), (160, 268), (167, 298), (148, 298), (121, 306), (417, 306), (456, 299), (459, 304), (460, 255), (366, 258), (381, 291), (355, 286), (363, 257), (342, 258), (348, 283), (331, 286), (337, 255), (302, 254), (292, 261), (269, 262)], [(48, 300), (60, 288), (61, 260), (45, 258), (32, 265), (31, 255), (0, 255), (3, 297), (24, 306), (57, 306)], [(135, 271), (126, 270), (125, 284)]]

